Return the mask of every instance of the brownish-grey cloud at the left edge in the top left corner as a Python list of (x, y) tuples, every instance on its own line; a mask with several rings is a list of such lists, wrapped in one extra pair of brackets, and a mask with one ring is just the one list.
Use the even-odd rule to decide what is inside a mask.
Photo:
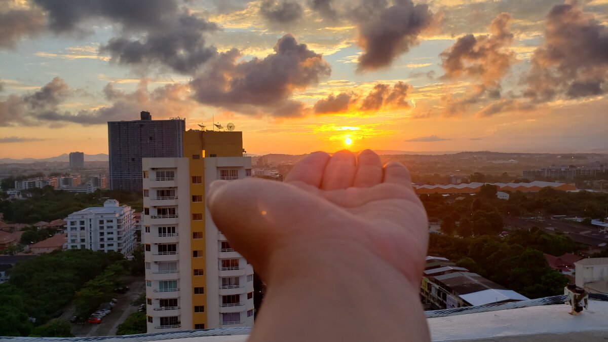
[(37, 35), (46, 27), (40, 9), (11, 8), (9, 2), (0, 0), (0, 49), (15, 47), (22, 37)]

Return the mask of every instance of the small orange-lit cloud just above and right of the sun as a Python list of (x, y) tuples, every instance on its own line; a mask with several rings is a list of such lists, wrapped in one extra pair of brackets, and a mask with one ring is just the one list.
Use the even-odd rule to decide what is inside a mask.
[(374, 88), (364, 97), (361, 102), (360, 109), (364, 111), (376, 111), (381, 108), (393, 108), (402, 109), (409, 108), (407, 103), (408, 92), (412, 86), (397, 82), (390, 88), (390, 85), (378, 83)]

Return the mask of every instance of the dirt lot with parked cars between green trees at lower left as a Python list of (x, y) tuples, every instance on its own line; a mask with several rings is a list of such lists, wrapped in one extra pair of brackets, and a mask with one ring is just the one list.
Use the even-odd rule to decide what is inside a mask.
[[(100, 324), (75, 324), (72, 323), (72, 333), (76, 337), (113, 336), (116, 330), (127, 316), (137, 311), (137, 307), (131, 303), (144, 291), (145, 283), (141, 277), (128, 277), (125, 284), (131, 290), (124, 294), (117, 293), (114, 298), (118, 299), (112, 312), (105, 316)], [(74, 315), (74, 307), (69, 307), (61, 318), (70, 319)]]

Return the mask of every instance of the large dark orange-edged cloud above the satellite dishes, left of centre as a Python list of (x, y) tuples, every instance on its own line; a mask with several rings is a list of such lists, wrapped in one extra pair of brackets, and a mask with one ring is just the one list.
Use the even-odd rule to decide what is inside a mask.
[(239, 62), (240, 57), (232, 49), (215, 58), (190, 83), (194, 98), (207, 105), (258, 114), (260, 109), (268, 112), (283, 107), (296, 89), (316, 85), (331, 74), (322, 55), (298, 44), (292, 35), (280, 38), (274, 54), (263, 59)]

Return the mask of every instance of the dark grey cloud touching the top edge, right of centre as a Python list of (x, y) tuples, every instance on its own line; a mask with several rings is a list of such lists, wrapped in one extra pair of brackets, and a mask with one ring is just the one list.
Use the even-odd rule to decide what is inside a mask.
[(395, 0), (389, 6), (384, 0), (367, 0), (354, 10), (358, 22), (359, 71), (385, 68), (399, 55), (418, 43), (418, 36), (433, 22), (426, 4), (414, 5), (411, 0)]

